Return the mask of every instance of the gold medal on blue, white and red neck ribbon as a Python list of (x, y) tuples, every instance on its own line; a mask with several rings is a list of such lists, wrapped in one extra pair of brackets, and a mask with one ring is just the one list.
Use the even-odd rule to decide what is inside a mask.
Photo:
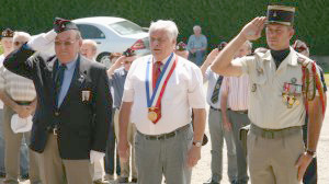
[(145, 87), (146, 87), (146, 100), (147, 100), (147, 107), (148, 107), (148, 119), (151, 120), (154, 124), (156, 124), (161, 116), (161, 107), (160, 107), (160, 102), (163, 96), (163, 92), (166, 90), (168, 80), (170, 79), (175, 65), (178, 57), (175, 59), (172, 59), (173, 53), (170, 55), (168, 60), (166, 61), (163, 69), (160, 73), (160, 77), (158, 78), (156, 82), (155, 89), (152, 88), (152, 61), (151, 58), (147, 62), (147, 68), (146, 68), (146, 81), (145, 81)]

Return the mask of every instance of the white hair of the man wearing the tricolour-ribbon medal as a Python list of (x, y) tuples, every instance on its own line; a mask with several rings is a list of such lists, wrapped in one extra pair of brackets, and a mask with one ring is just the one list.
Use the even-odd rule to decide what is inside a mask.
[(177, 39), (179, 34), (175, 23), (169, 20), (158, 20), (156, 22), (151, 22), (148, 33), (150, 35), (150, 33), (158, 30), (166, 31), (168, 33), (168, 36), (172, 39)]

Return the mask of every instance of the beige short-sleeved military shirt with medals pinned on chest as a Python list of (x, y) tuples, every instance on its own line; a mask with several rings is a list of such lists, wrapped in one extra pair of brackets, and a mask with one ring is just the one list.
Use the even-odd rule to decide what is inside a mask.
[[(282, 129), (305, 123), (303, 71), (298, 57), (303, 57), (304, 62), (313, 62), (293, 48), (277, 70), (270, 50), (234, 60), (242, 65), (243, 73), (249, 74), (248, 115), (252, 124), (261, 128)], [(307, 68), (311, 71), (311, 65)]]

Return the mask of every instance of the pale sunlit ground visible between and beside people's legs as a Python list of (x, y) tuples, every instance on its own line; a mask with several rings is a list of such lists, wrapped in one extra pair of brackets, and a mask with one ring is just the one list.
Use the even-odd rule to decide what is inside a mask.
[[(329, 96), (329, 93), (327, 93)], [(319, 108), (320, 111), (320, 108)], [(209, 137), (208, 127), (206, 127), (206, 135)], [(329, 183), (329, 111), (326, 113), (320, 141), (318, 145), (318, 184)], [(223, 171), (223, 184), (229, 184), (227, 179), (227, 158), (226, 148), (224, 149), (224, 171)], [(211, 143), (207, 143), (202, 149), (202, 159), (198, 164), (194, 168), (192, 174), (192, 184), (202, 184), (207, 181), (211, 176)], [(0, 181), (1, 182), (1, 181)], [(2, 183), (2, 182), (1, 182)], [(30, 182), (22, 182), (21, 184), (30, 184)]]

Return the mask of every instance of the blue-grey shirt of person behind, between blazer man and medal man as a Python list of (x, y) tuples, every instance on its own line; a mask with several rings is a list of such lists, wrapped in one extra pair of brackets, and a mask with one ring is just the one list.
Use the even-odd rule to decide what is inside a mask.
[(124, 69), (124, 67), (122, 67), (116, 69), (110, 78), (110, 88), (114, 108), (120, 108), (121, 106), (127, 73), (128, 72)]

